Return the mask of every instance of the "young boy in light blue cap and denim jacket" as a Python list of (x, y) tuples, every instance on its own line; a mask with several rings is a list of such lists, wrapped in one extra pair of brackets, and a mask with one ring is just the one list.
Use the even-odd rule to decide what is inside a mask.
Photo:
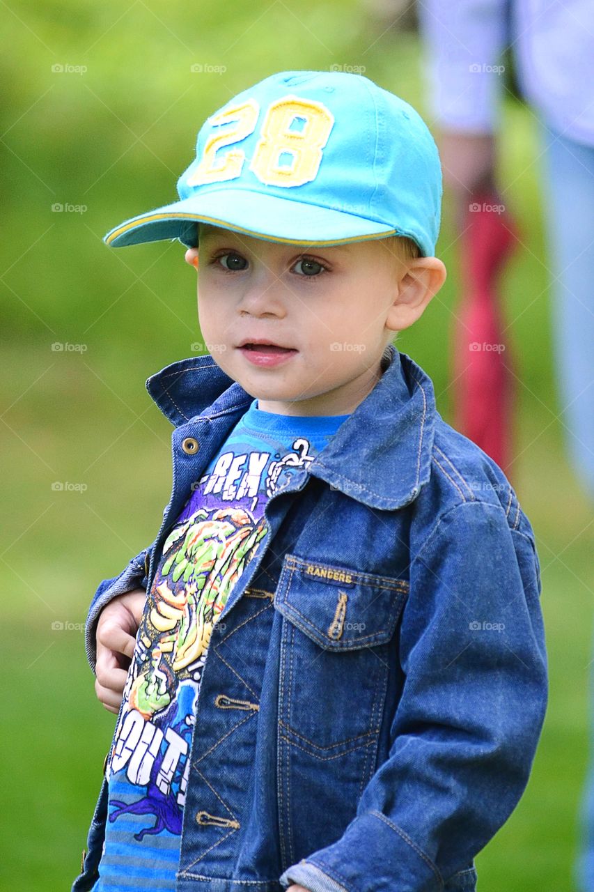
[(146, 383), (173, 489), (88, 615), (118, 721), (73, 889), (474, 890), (547, 659), (516, 494), (391, 343), (445, 278), (433, 139), (367, 78), (283, 72), (177, 187), (105, 238), (186, 245), (209, 352)]

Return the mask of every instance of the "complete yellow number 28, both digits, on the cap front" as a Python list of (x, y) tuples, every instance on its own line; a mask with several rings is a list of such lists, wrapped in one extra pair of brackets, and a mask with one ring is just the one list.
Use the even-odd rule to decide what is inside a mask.
[[(221, 111), (211, 119), (219, 127), (234, 124), (224, 133), (215, 133), (207, 140), (202, 159), (187, 178), (188, 186), (218, 183), (239, 177), (245, 161), (242, 149), (231, 149), (223, 155), (217, 152), (225, 145), (240, 142), (256, 127), (260, 106), (254, 99), (242, 105)], [(301, 120), (301, 129), (291, 129), (295, 120)], [(267, 186), (301, 186), (316, 177), (322, 149), (326, 145), (334, 117), (323, 103), (284, 96), (268, 106), (260, 130), (250, 169), (261, 183)], [(279, 163), (281, 156), (289, 155), (289, 164)], [(219, 161), (219, 163), (217, 163)]]

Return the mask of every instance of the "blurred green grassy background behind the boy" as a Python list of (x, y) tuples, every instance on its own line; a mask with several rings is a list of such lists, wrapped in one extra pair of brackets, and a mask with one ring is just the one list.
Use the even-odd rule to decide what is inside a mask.
[[(204, 118), (276, 70), (362, 66), (431, 119), (416, 34), (384, 29), (353, 0), (3, 10), (0, 886), (17, 892), (70, 888), (78, 873), (114, 723), (95, 699), (80, 630), (97, 584), (153, 541), (169, 500), (171, 426), (144, 381), (200, 340), (183, 246), (110, 250), (102, 236), (175, 200)], [(591, 507), (557, 419), (536, 122), (507, 97), (503, 123), (500, 182), (524, 244), (503, 289), (517, 375), (510, 476), (540, 553), (550, 702), (524, 797), (476, 861), (481, 892), (558, 892), (573, 888), (587, 760)], [(448, 281), (399, 340), (433, 377), (448, 420), (451, 216), (446, 202), (437, 253)]]

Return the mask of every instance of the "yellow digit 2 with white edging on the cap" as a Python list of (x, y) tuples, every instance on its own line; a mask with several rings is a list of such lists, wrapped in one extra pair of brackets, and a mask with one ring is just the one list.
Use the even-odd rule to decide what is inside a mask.
[(215, 156), (222, 146), (239, 143), (245, 136), (249, 136), (256, 126), (259, 112), (259, 104), (255, 99), (249, 99), (243, 105), (235, 105), (212, 118), (211, 123), (216, 127), (223, 124), (235, 124), (235, 127), (210, 136), (198, 167), (187, 178), (188, 186), (202, 186), (204, 183), (218, 183), (224, 179), (239, 177), (245, 161), (245, 153), (241, 149), (227, 152), (219, 160), (219, 164), (215, 163)]

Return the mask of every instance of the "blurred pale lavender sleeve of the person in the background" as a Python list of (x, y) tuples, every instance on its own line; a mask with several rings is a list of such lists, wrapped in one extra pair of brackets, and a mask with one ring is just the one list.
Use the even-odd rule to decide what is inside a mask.
[(441, 128), (492, 133), (509, 43), (507, 0), (424, 0), (418, 6), (433, 120)]

